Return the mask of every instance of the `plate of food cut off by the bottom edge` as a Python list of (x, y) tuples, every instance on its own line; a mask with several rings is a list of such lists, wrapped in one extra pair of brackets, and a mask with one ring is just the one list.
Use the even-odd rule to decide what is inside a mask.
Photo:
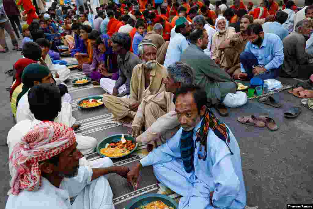
[(125, 209), (177, 209), (177, 202), (161, 194), (141, 195), (131, 200)]

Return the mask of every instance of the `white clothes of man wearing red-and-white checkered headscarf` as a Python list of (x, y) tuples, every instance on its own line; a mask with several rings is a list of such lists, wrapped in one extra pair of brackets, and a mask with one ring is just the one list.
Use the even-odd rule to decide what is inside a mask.
[[(113, 166), (109, 158), (101, 158), (99, 167)], [(93, 167), (91, 165), (91, 167)], [(97, 166), (98, 167), (98, 166)], [(59, 188), (42, 177), (42, 185), (38, 191), (21, 191), (18, 196), (10, 195), (6, 209), (114, 209), (113, 193), (105, 176), (91, 181), (92, 170), (89, 166), (80, 166), (74, 178), (64, 178)], [(70, 197), (77, 196), (73, 205)]]

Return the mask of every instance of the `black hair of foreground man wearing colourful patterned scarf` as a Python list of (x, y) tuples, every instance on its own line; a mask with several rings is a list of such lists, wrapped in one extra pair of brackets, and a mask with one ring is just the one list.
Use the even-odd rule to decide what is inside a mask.
[(204, 90), (202, 90), (199, 86), (186, 85), (177, 89), (176, 99), (179, 95), (181, 94), (185, 95), (187, 93), (192, 93), (193, 101), (196, 103), (198, 113), (200, 114), (201, 108), (203, 106), (206, 106), (207, 104), (207, 100), (208, 100), (207, 93)]

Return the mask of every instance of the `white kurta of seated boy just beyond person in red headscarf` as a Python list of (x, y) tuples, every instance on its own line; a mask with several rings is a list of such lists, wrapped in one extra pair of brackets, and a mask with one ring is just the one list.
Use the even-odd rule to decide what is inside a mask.
[[(54, 80), (57, 82), (56, 83), (57, 85), (59, 85), (60, 83), (62, 83), (63, 81), (69, 78), (69, 74), (71, 73), (71, 71), (65, 65), (59, 65), (59, 64), (54, 65), (49, 55), (46, 56), (46, 58), (44, 59), (44, 62), (47, 64), (49, 70), (51, 71), (54, 77)], [(55, 76), (56, 73), (59, 74), (59, 78), (56, 78)]]

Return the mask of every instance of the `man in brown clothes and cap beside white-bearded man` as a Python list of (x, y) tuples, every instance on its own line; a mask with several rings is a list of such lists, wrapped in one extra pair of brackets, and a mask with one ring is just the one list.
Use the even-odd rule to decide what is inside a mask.
[(245, 14), (240, 20), (240, 32), (234, 34), (230, 39), (223, 41), (218, 47), (219, 51), (224, 54), (221, 68), (229, 75), (240, 73), (239, 55), (244, 51), (249, 41), (247, 28), (252, 23), (253, 16)]

